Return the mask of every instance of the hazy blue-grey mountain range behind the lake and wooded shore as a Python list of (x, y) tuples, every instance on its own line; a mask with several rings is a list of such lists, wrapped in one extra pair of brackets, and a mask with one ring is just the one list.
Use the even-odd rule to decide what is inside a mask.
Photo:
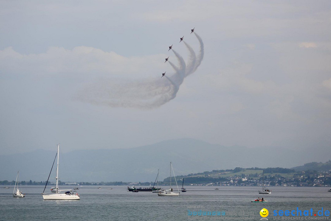
[[(182, 138), (130, 149), (79, 150), (64, 153), (60, 146), (61, 181), (154, 181), (160, 168), (160, 180), (169, 176), (172, 161), (176, 175), (235, 167), (290, 168), (311, 161), (331, 158), (325, 147), (299, 150), (264, 147), (225, 147), (201, 140)], [(0, 155), (0, 180), (47, 180), (54, 151), (36, 150), (18, 155)], [(56, 162), (51, 180), (54, 180)]]

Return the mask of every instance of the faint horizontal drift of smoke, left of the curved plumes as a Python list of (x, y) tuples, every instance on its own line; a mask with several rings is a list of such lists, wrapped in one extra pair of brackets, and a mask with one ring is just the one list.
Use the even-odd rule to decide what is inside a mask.
[(175, 84), (160, 79), (130, 83), (102, 80), (85, 87), (76, 99), (96, 105), (150, 109), (173, 99), (177, 91)]

